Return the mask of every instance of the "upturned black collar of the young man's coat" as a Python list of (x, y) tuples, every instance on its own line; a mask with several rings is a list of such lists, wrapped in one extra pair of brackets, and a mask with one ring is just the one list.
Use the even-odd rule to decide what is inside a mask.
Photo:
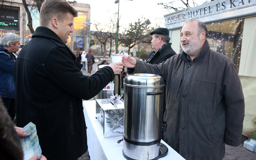
[(47, 27), (37, 27), (36, 31), (34, 32), (34, 34), (32, 35), (32, 38), (35, 37), (43, 37), (43, 38), (47, 38), (47, 39), (52, 39), (55, 42), (58, 42), (60, 44), (63, 44), (65, 46), (65, 48), (68, 50), (68, 52), (70, 53), (71, 57), (75, 60), (75, 54), (72, 52), (72, 50), (62, 41), (62, 39), (60, 39), (60, 37), (53, 32), (52, 30), (50, 30)]

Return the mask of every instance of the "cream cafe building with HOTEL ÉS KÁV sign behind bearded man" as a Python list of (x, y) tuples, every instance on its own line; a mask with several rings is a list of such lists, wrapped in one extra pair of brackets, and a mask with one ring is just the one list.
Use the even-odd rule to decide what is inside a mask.
[(226, 55), (238, 68), (245, 97), (242, 134), (256, 139), (256, 1), (211, 1), (164, 17), (176, 53), (182, 52), (180, 32), (184, 21), (197, 18), (206, 24), (210, 49)]

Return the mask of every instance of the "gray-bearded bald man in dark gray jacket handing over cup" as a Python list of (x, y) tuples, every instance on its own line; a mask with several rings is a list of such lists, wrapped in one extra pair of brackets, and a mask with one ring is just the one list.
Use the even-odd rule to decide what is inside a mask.
[(159, 65), (123, 55), (128, 73), (152, 73), (166, 81), (168, 124), (164, 140), (186, 160), (222, 160), (225, 143), (238, 146), (244, 121), (244, 95), (235, 64), (214, 52), (206, 25), (184, 22), (183, 52)]

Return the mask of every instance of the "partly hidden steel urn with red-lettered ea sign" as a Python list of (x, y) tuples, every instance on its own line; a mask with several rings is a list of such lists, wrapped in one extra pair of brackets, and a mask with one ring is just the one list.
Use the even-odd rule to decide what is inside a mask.
[[(108, 66), (108, 64), (103, 64), (98, 66), (98, 70)], [(113, 95), (121, 95), (121, 76), (120, 74), (115, 75), (114, 80), (112, 82), (109, 82), (109, 84), (101, 90), (97, 95), (96, 99), (108, 99), (110, 96)]]

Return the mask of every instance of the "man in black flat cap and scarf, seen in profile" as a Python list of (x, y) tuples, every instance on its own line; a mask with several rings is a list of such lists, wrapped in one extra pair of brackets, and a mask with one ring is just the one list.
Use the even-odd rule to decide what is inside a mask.
[[(169, 43), (170, 37), (167, 28), (157, 28), (156, 30), (150, 32), (150, 35), (152, 35), (151, 43), (153, 52), (149, 54), (148, 58), (146, 59), (146, 63), (160, 64), (176, 54), (171, 48), (171, 43)], [(166, 91), (165, 88), (164, 90)], [(166, 108), (165, 96), (166, 92), (164, 92), (163, 114)]]

